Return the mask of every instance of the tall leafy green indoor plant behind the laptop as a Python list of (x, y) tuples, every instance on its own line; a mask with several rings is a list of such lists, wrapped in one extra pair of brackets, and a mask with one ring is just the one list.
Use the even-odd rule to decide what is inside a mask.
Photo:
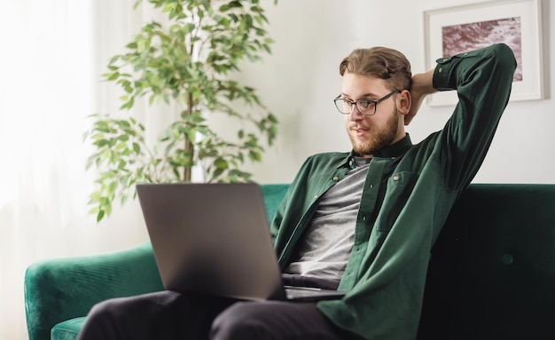
[[(103, 77), (121, 87), (121, 112), (92, 115), (83, 136), (94, 149), (86, 167), (98, 170), (98, 189), (90, 194), (98, 221), (110, 215), (114, 201), (135, 198), (135, 184), (191, 181), (194, 165), (207, 182), (249, 181), (252, 175), (241, 166), (260, 162), (264, 145), (277, 134), (276, 117), (254, 89), (231, 77), (240, 61), (270, 53), (259, 0), (148, 2), (168, 22), (145, 24), (127, 53), (110, 59)], [(145, 125), (132, 114), (140, 99), (179, 107), (154, 146), (147, 145)], [(224, 139), (210, 127), (207, 117), (216, 113), (240, 122), (235, 138)]]

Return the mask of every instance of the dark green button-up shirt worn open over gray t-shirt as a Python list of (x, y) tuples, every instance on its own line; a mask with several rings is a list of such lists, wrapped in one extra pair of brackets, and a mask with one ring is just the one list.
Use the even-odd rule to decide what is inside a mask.
[[(437, 60), (434, 88), (457, 90), (445, 127), (412, 145), (407, 135), (373, 155), (340, 300), (317, 304), (366, 339), (415, 339), (430, 250), (457, 197), (480, 168), (516, 67), (505, 44)], [(316, 154), (293, 179), (271, 225), (279, 263), (293, 260), (318, 200), (353, 169), (353, 153)]]

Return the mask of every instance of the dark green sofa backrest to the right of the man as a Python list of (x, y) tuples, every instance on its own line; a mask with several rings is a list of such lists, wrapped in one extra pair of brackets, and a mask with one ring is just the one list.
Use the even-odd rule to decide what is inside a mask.
[(555, 185), (473, 184), (432, 250), (418, 339), (555, 338)]

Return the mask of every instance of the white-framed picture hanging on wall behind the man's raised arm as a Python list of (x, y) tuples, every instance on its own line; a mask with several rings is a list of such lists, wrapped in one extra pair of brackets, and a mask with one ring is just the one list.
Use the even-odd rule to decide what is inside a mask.
[[(424, 12), (426, 69), (435, 60), (492, 43), (517, 59), (510, 100), (543, 99), (541, 0), (500, 0)], [(428, 96), (431, 106), (457, 103), (455, 91)]]

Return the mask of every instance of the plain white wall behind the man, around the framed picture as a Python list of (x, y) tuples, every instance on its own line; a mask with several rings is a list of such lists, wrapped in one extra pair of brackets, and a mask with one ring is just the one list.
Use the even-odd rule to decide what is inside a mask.
[[(277, 144), (256, 164), (255, 180), (292, 180), (310, 154), (348, 151), (343, 118), (332, 99), (340, 92), (340, 60), (357, 47), (384, 45), (410, 59), (413, 73), (425, 71), (423, 12), (476, 1), (464, 0), (279, 0), (268, 1), (270, 56), (245, 65), (241, 81), (253, 85), (280, 121)], [(543, 100), (510, 102), (496, 138), (474, 182), (555, 183), (555, 6), (543, 1)], [(449, 107), (420, 109), (407, 127), (414, 143), (442, 128)]]

